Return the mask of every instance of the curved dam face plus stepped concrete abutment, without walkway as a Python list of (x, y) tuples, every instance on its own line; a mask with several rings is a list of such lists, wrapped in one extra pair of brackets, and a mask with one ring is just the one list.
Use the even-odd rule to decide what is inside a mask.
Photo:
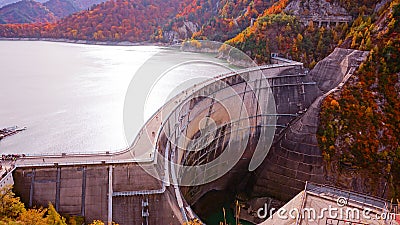
[[(218, 210), (240, 195), (288, 201), (304, 189), (306, 181), (326, 183), (316, 140), (319, 107), (365, 57), (365, 52), (336, 49), (310, 73), (302, 66), (266, 70), (268, 83), (254, 85), (250, 91), (246, 88), (249, 79), (232, 76), (224, 80), (240, 93), (241, 101), (216, 102), (210, 91), (205, 92), (206, 97), (183, 104), (171, 121), (166, 121), (157, 144), (171, 152), (172, 174), (175, 171), (179, 182), (174, 177), (170, 180), (180, 186), (187, 204), (206, 218), (214, 211), (206, 205)], [(260, 94), (257, 87), (266, 86), (274, 99), (273, 113), (258, 110), (260, 104), (268, 105), (268, 97), (259, 98), (268, 93)], [(237, 121), (232, 119), (232, 111), (239, 114)], [(204, 120), (206, 126), (199, 122)], [(207, 121), (211, 121), (210, 127)], [(268, 156), (260, 159), (260, 167), (249, 170), (259, 147), (269, 151)], [(224, 153), (229, 157), (223, 157)], [(225, 170), (227, 165), (231, 167)]]

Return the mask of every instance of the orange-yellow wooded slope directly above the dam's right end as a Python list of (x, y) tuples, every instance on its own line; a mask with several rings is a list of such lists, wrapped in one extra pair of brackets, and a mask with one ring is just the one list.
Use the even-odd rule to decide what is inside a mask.
[[(285, 11), (291, 11), (288, 8), (294, 2), (297, 0), (292, 1)], [(317, 4), (330, 3), (320, 0)], [(270, 54), (277, 52), (303, 62), (305, 66), (313, 67), (345, 37), (346, 24), (330, 27), (318, 27), (313, 22), (304, 24), (298, 16), (279, 13), (285, 5), (285, 2), (278, 2), (275, 7), (265, 10), (252, 26), (227, 43), (248, 53), (259, 63), (269, 63)]]

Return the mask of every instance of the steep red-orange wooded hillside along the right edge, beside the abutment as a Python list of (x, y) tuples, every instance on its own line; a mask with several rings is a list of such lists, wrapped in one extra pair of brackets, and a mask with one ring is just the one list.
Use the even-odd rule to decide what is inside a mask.
[(342, 91), (323, 104), (318, 133), (333, 180), (345, 171), (367, 186), (382, 179), (391, 197), (400, 197), (400, 1), (375, 16), (360, 16), (342, 47), (371, 50)]

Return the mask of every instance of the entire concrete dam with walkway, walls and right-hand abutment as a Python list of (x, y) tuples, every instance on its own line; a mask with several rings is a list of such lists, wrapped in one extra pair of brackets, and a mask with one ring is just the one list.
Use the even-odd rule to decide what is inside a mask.
[(367, 54), (337, 48), (311, 71), (287, 61), (223, 74), (166, 103), (127, 150), (19, 159), (14, 191), (29, 207), (121, 225), (196, 219), (210, 191), (289, 201), (306, 181), (328, 183), (320, 104)]

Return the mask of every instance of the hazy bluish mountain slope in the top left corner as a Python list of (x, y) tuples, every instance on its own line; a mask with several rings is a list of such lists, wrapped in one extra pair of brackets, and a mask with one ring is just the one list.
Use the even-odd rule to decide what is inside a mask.
[(0, 9), (1, 23), (54, 22), (56, 17), (41, 3), (24, 0)]

